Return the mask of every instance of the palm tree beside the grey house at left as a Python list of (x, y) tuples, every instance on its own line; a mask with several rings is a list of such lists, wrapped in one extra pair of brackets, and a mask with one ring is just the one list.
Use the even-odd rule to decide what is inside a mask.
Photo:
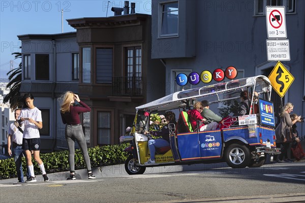
[[(21, 47), (20, 47), (21, 48)], [(21, 58), (21, 53), (14, 52), (12, 55), (15, 55), (15, 59)], [(4, 97), (3, 103), (7, 103), (9, 101), (11, 109), (15, 109), (19, 106), (19, 97), (20, 97), (20, 87), (21, 87), (21, 74), (22, 73), (22, 65), (21, 62), (19, 66), (15, 69), (9, 71), (7, 75), (9, 76), (10, 82), (7, 84), (6, 88), (10, 88), (10, 92)]]

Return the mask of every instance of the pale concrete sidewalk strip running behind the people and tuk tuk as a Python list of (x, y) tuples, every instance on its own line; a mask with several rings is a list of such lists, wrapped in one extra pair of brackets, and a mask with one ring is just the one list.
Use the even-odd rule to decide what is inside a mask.
[[(301, 159), (297, 162), (305, 162), (305, 159)], [(266, 165), (266, 164), (265, 164)], [(268, 164), (274, 165), (274, 164)], [(264, 167), (264, 165), (262, 166)], [(231, 168), (225, 162), (221, 163), (198, 163), (192, 165), (169, 165), (169, 166), (158, 166), (158, 167), (146, 167), (144, 174), (160, 174), (160, 173), (173, 173), (173, 172), (182, 172), (182, 171), (202, 171), (202, 170), (210, 170), (211, 168)], [(118, 165), (109, 165), (92, 168), (92, 173), (97, 178), (105, 178), (105, 177), (131, 177), (125, 171), (124, 164)], [(67, 180), (70, 176), (69, 171), (67, 172), (59, 172), (48, 174), (50, 181), (60, 181)], [(88, 174), (86, 169), (76, 170), (75, 171), (76, 180), (87, 180)], [(24, 178), (25, 180), (26, 178)], [(41, 174), (36, 175), (37, 182), (44, 182)], [(9, 178), (0, 180), (0, 184), (4, 183), (17, 183), (17, 178)]]

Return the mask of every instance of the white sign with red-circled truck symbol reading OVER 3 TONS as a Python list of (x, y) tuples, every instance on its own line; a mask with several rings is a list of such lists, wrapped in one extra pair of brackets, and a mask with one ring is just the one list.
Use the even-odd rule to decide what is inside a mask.
[(287, 38), (285, 7), (266, 7), (268, 38)]

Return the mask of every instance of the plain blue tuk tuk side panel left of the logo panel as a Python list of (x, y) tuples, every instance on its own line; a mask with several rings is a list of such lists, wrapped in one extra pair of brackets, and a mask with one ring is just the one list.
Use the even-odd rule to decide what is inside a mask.
[(182, 161), (200, 160), (198, 133), (177, 134), (178, 151)]

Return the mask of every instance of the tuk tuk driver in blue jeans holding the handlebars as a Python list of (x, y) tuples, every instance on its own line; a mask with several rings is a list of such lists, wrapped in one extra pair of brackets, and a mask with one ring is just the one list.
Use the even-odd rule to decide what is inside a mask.
[(159, 139), (153, 139), (148, 141), (148, 149), (150, 152), (150, 158), (144, 164), (154, 164), (156, 148), (167, 147), (169, 144), (169, 127), (168, 124), (173, 123), (176, 125), (176, 116), (172, 111), (168, 111), (164, 114), (167, 124), (164, 125), (159, 131), (145, 131), (144, 134), (151, 134), (155, 137), (162, 137)]

